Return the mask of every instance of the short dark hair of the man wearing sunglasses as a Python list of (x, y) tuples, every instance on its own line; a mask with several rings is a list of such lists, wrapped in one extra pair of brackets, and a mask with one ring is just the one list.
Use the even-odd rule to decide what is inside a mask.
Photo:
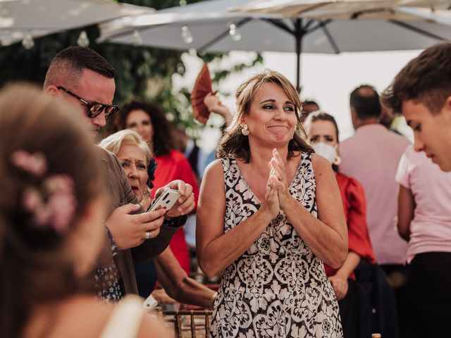
[(78, 77), (85, 69), (112, 79), (116, 70), (97, 51), (87, 47), (72, 46), (60, 51), (53, 58), (47, 70), (44, 88), (55, 84), (58, 77)]

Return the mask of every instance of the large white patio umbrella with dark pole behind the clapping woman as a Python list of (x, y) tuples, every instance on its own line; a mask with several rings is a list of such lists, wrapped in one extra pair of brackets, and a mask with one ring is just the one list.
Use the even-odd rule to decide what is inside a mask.
[[(280, 4), (284, 1), (273, 2)], [(98, 41), (132, 44), (138, 40), (146, 46), (180, 50), (294, 51), (297, 54), (299, 90), (300, 55), (303, 52), (338, 54), (341, 51), (424, 49), (451, 39), (451, 27), (442, 22), (450, 18), (447, 16), (449, 13), (443, 11), (434, 18), (431, 9), (407, 6), (409, 3), (418, 5), (420, 1), (299, 2), (308, 5), (308, 8), (304, 8), (300, 17), (288, 18), (286, 13), (244, 12), (249, 10), (247, 7), (256, 4), (252, 0), (203, 1), (101, 24)], [(315, 8), (331, 2), (340, 2), (342, 6), (345, 2), (352, 2), (354, 6), (338, 20), (321, 15), (309, 18), (309, 11), (318, 14)], [(440, 0), (421, 1), (425, 6), (434, 2), (443, 6)], [(381, 9), (381, 6), (369, 6), (372, 3), (385, 4), (385, 8), (375, 16), (374, 8)], [(388, 7), (389, 3), (404, 6)], [(244, 8), (243, 11), (238, 11), (240, 8)]]

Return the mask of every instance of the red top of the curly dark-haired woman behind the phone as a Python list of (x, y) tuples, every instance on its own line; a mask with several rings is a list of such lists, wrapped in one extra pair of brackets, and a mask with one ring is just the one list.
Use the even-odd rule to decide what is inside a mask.
[[(192, 185), (192, 192), (194, 192), (194, 202), (197, 206), (197, 199), (199, 198), (199, 187), (197, 186), (196, 177), (192, 172), (190, 163), (185, 155), (180, 151), (171, 150), (167, 155), (155, 157), (157, 163), (155, 169), (154, 189), (152, 189), (152, 198), (155, 196), (157, 189), (165, 186), (173, 180), (183, 180), (185, 183)], [(173, 251), (178, 263), (190, 274), (190, 253), (185, 241), (185, 231), (180, 227), (169, 242), (169, 246)]]

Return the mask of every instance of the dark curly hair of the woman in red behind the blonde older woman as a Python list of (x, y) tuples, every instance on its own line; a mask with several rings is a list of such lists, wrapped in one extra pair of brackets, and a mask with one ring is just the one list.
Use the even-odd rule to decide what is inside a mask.
[(152, 146), (154, 148), (154, 156), (169, 154), (175, 149), (174, 128), (171, 122), (166, 118), (163, 109), (152, 102), (130, 101), (121, 107), (116, 115), (115, 125), (117, 130), (127, 128), (127, 117), (131, 111), (141, 110), (149, 115), (152, 126), (154, 127), (154, 136), (152, 138)]

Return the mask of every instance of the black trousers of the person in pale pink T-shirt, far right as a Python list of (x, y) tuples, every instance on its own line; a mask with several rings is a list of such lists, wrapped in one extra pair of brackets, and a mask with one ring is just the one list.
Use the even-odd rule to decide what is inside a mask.
[(417, 337), (451, 337), (451, 253), (416, 255), (406, 289)]

